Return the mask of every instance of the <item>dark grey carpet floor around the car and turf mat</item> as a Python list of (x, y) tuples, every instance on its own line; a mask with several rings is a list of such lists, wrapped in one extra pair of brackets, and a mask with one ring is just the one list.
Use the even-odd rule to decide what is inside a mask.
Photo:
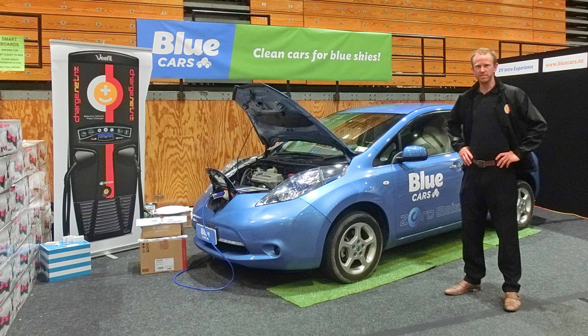
[[(587, 335), (588, 220), (536, 209), (533, 225), (542, 233), (520, 240), (517, 313), (502, 310), (497, 248), (486, 251), (487, 275), (477, 293), (443, 294), (463, 277), (458, 260), (308, 308), (266, 288), (313, 271), (236, 267), (228, 288), (203, 292), (174, 284), (173, 273), (140, 275), (132, 250), (117, 260), (95, 258), (91, 275), (35, 283), (8, 335)], [(192, 243), (188, 256), (206, 258)], [(214, 287), (229, 276), (223, 261), (209, 260), (181, 281)]]

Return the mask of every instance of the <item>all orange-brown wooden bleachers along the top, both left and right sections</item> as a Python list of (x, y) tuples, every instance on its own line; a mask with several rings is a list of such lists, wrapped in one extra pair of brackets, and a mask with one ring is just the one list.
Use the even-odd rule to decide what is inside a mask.
[[(427, 78), (427, 85), (469, 86), (469, 55), (482, 46), (498, 49), (498, 41), (565, 43), (565, 1), (562, 0), (251, 0), (253, 14), (270, 14), (271, 24), (309, 28), (446, 36), (445, 78)], [(182, 0), (44, 0), (0, 3), (0, 11), (42, 14), (43, 68), (0, 72), (0, 80), (51, 80), (49, 39), (136, 45), (135, 18), (183, 19)], [(266, 25), (265, 18), (251, 19)], [(36, 39), (36, 19), (4, 16), (0, 35)], [(29, 43), (26, 63), (38, 51)], [(425, 41), (426, 55), (443, 55), (440, 41)], [(523, 54), (557, 49), (524, 45)], [(518, 55), (518, 45), (503, 45), (503, 56)], [(393, 38), (392, 52), (419, 55), (420, 39)], [(420, 72), (420, 61), (395, 56), (395, 72)], [(440, 73), (440, 61), (427, 61), (425, 72)], [(284, 83), (283, 80), (256, 80)], [(292, 80), (292, 84), (330, 84)], [(391, 82), (341, 82), (359, 85), (420, 85), (415, 76)]]

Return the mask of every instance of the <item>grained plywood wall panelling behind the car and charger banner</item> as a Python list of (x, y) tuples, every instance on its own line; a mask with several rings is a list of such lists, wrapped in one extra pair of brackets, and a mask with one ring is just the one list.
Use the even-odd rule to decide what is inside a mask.
[[(352, 107), (394, 102), (304, 100), (298, 103), (320, 118)], [(205, 168), (222, 168), (237, 157), (244, 143), (241, 156), (263, 152), (255, 130), (245, 142), (251, 124), (232, 100), (148, 100), (146, 113), (145, 201), (192, 206), (209, 184)], [(0, 119), (20, 119), (25, 139), (47, 142), (52, 186), (51, 100), (0, 100)], [(163, 194), (163, 198), (156, 199), (156, 194)]]

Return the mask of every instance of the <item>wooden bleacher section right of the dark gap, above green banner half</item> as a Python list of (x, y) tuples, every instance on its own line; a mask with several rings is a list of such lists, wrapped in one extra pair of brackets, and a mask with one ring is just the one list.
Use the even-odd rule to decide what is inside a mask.
[[(251, 12), (270, 14), (272, 25), (446, 36), (446, 77), (426, 78), (427, 86), (470, 86), (470, 54), (499, 40), (565, 43), (565, 1), (560, 0), (251, 0)], [(265, 19), (252, 19), (265, 25)], [(443, 55), (442, 42), (425, 41), (425, 55)], [(503, 44), (503, 57), (519, 55), (519, 45)], [(558, 47), (523, 45), (524, 55)], [(420, 55), (420, 39), (393, 38), (392, 53)], [(439, 61), (425, 72), (440, 73)], [(420, 72), (420, 60), (395, 56), (393, 72)], [(256, 82), (285, 83), (280, 80)], [(296, 81), (296, 83), (299, 81)], [(290, 83), (295, 83), (291, 81)], [(332, 85), (333, 81), (308, 80)], [(341, 85), (420, 85), (417, 76), (394, 76), (391, 82), (340, 82)]]

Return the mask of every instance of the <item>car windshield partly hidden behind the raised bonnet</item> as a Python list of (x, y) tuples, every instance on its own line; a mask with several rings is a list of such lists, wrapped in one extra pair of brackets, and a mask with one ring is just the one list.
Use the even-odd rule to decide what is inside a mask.
[[(343, 111), (326, 116), (320, 119), (320, 122), (341, 139), (349, 149), (355, 152), (364, 152), (405, 116), (398, 113)], [(286, 142), (278, 150), (278, 153), (308, 153), (320, 156), (343, 154), (335, 147), (305, 141)]]

